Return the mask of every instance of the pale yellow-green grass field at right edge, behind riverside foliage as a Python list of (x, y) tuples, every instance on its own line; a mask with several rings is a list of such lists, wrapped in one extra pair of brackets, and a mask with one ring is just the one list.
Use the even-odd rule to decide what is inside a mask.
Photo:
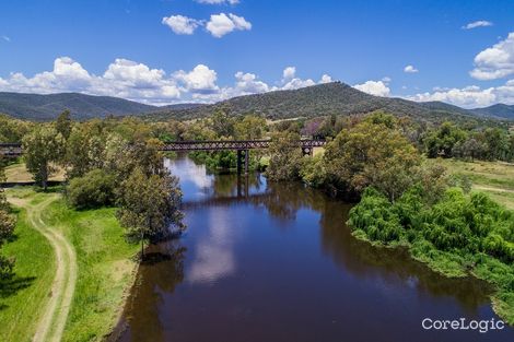
[(503, 162), (464, 162), (437, 160), (451, 174), (465, 175), (472, 181), (472, 189), (489, 194), (493, 200), (514, 210), (514, 164)]

